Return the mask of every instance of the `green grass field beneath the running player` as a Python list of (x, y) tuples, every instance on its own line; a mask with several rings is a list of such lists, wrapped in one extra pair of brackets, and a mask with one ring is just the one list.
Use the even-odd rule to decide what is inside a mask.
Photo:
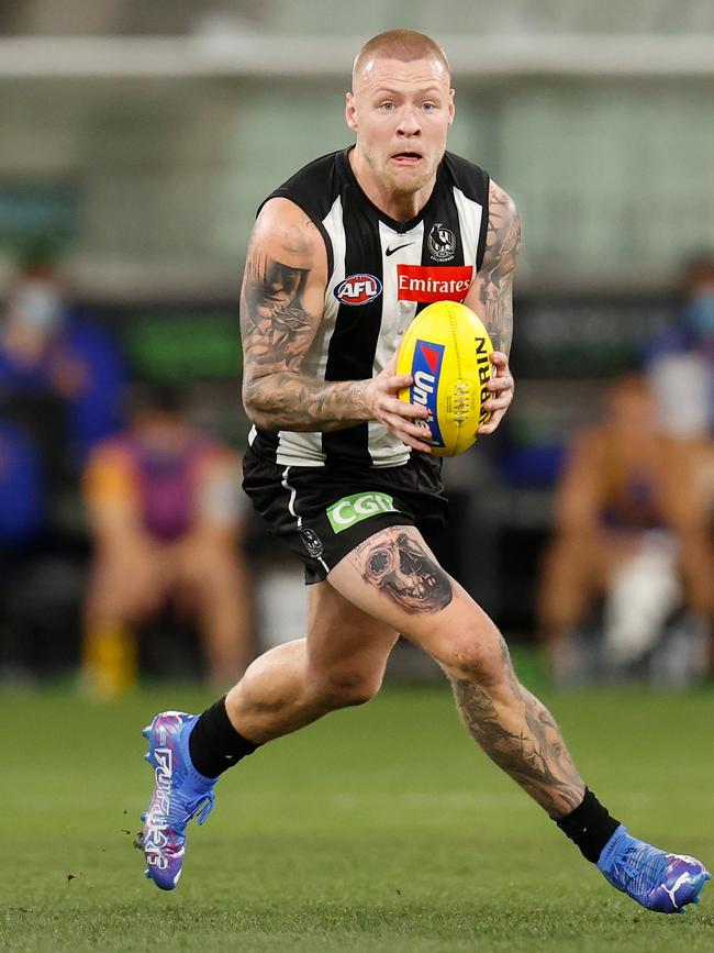
[[(210, 700), (0, 696), (0, 949), (714, 950), (712, 885), (685, 917), (615, 891), (472, 746), (446, 688), (392, 688), (258, 751), (163, 894), (132, 843), (150, 783), (141, 729)], [(714, 864), (714, 692), (545, 700), (613, 813)]]

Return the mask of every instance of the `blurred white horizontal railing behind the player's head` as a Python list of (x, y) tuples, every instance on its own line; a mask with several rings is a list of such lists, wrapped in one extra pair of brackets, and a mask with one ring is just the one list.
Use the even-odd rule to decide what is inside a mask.
[[(712, 77), (710, 35), (439, 37), (458, 80), (493, 77)], [(1, 37), (0, 79), (346, 77), (360, 40), (267, 36)]]

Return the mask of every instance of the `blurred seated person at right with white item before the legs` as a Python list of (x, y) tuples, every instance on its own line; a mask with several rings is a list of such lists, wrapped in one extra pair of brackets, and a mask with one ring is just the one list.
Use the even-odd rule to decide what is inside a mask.
[(598, 599), (604, 665), (614, 671), (642, 660), (683, 603), (702, 624), (714, 619), (700, 451), (661, 435), (644, 378), (610, 386), (605, 420), (578, 437), (556, 491), (537, 605), (556, 678), (582, 674), (573, 635)]

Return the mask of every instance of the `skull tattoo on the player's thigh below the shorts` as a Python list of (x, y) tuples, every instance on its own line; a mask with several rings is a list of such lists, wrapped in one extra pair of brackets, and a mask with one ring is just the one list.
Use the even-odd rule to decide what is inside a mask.
[[(362, 558), (364, 554), (364, 558)], [(453, 598), (451, 581), (417, 540), (403, 530), (370, 538), (353, 551), (362, 579), (381, 589), (410, 614), (433, 614)]]

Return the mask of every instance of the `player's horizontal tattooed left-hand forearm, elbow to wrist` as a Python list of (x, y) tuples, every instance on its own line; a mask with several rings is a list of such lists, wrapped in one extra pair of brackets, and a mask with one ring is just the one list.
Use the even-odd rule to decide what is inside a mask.
[(336, 380), (290, 373), (248, 380), (244, 405), (250, 420), (265, 430), (343, 430), (371, 419), (366, 380)]

